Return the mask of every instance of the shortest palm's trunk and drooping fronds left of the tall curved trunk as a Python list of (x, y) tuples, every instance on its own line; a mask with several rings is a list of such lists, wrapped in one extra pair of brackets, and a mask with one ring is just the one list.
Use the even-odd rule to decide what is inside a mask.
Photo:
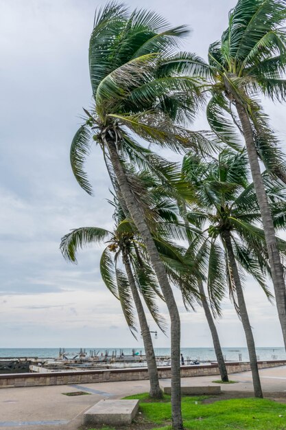
[[(119, 213), (117, 211), (117, 213)], [(161, 330), (165, 330), (165, 324), (158, 313), (156, 296), (161, 296), (160, 288), (149, 262), (146, 262), (144, 246), (136, 235), (132, 223), (126, 219), (119, 220), (114, 231), (108, 231), (99, 227), (80, 227), (73, 229), (62, 237), (60, 249), (64, 258), (76, 263), (78, 249), (93, 243), (108, 243), (100, 259), (100, 272), (102, 280), (109, 291), (119, 299), (123, 315), (136, 338), (136, 323), (132, 301), (136, 307), (139, 318), (141, 335), (143, 338), (148, 374), (150, 378), (150, 397), (162, 398), (163, 393), (158, 381), (156, 357), (149, 326), (139, 291), (150, 310), (154, 321)], [(119, 263), (123, 263), (125, 273), (120, 269)]]

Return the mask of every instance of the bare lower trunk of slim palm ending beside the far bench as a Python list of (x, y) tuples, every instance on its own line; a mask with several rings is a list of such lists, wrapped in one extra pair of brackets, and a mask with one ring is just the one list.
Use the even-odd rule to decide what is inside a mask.
[(204, 308), (204, 315), (206, 315), (206, 321), (208, 321), (208, 327), (211, 330), (211, 337), (213, 338), (213, 347), (215, 348), (215, 355), (217, 357), (217, 365), (219, 367), (220, 377), (223, 382), (228, 382), (228, 372), (226, 370), (226, 363), (224, 363), (224, 356), (222, 354), (222, 347), (219, 342), (219, 335), (217, 334), (217, 328), (215, 327), (215, 322), (213, 321), (213, 315), (211, 315), (211, 310), (208, 306), (206, 300), (206, 295), (204, 294), (204, 286), (202, 281), (198, 281), (199, 291), (202, 300), (202, 307)]

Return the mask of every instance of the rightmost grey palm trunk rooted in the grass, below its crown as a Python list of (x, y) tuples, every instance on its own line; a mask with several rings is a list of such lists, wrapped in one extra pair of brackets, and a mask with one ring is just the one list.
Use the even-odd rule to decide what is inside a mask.
[(252, 329), (250, 326), (250, 321), (248, 318), (248, 311), (246, 309), (246, 302), (244, 301), (243, 289), (242, 289), (240, 278), (239, 278), (239, 271), (237, 269), (237, 262), (235, 260), (235, 254), (233, 253), (233, 245), (232, 245), (231, 239), (230, 239), (230, 232), (224, 231), (223, 237), (224, 237), (224, 242), (226, 245), (228, 264), (230, 265), (230, 271), (233, 275), (233, 280), (235, 283), (235, 289), (237, 292), (237, 302), (239, 305), (241, 322), (243, 325), (243, 330), (246, 334), (246, 343), (248, 346), (250, 368), (251, 368), (251, 372), (252, 372), (254, 396), (263, 398), (261, 383), (260, 383), (260, 378), (259, 378), (259, 372), (258, 372), (258, 366), (257, 366), (257, 354), (255, 352), (254, 338), (253, 338)]

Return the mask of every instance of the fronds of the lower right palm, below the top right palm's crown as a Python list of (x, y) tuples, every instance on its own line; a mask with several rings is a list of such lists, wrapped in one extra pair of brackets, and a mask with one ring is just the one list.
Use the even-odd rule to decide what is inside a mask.
[[(218, 160), (204, 162), (193, 155), (184, 158), (182, 170), (196, 190), (197, 205), (187, 214), (189, 223), (201, 229), (202, 235), (193, 240), (188, 253), (196, 252), (200, 270), (207, 274), (206, 282), (211, 297), (213, 313), (220, 313), (219, 302), (224, 297), (226, 269), (224, 254), (216, 242), (225, 229), (233, 234), (235, 253), (240, 266), (259, 282), (270, 297), (265, 276), (270, 274), (267, 248), (261, 222), (261, 214), (253, 183), (248, 183), (246, 153), (235, 154), (224, 149)], [(270, 181), (265, 175), (267, 194), (272, 201), (273, 212), (285, 207), (286, 193), (278, 181)], [(280, 216), (275, 222), (279, 227)], [(281, 251), (286, 242), (278, 239)], [(220, 250), (220, 251), (219, 251)], [(234, 295), (233, 295), (234, 293)], [(235, 288), (230, 290), (235, 298)]]

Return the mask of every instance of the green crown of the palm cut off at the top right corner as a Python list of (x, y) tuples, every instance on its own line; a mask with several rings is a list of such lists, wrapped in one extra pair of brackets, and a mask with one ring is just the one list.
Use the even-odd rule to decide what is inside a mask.
[[(208, 61), (215, 86), (208, 104), (208, 120), (224, 138), (237, 143), (231, 123), (222, 123), (217, 113), (230, 113), (236, 99), (246, 107), (259, 155), (265, 166), (285, 181), (283, 155), (267, 116), (255, 100), (286, 97), (286, 18), (284, 0), (239, 0), (230, 11), (228, 29), (221, 41), (209, 47)], [(225, 92), (224, 92), (225, 91)], [(225, 115), (223, 115), (225, 116)], [(224, 117), (225, 121), (225, 117)], [(239, 120), (236, 120), (237, 124)]]

